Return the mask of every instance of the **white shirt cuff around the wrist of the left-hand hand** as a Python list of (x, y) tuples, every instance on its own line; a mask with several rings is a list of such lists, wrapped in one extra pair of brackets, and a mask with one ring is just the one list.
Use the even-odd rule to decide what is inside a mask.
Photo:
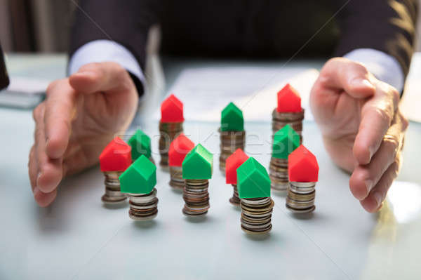
[(69, 60), (68, 73), (76, 73), (80, 67), (91, 62), (117, 62), (131, 74), (135, 75), (145, 88), (145, 76), (128, 49), (111, 40), (95, 40), (84, 44), (76, 50)]

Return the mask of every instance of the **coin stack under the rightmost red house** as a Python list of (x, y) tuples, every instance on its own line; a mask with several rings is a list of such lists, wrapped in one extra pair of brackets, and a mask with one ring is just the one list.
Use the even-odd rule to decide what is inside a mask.
[(286, 196), (286, 208), (293, 213), (313, 212), (314, 198), (316, 197), (316, 182), (290, 182), (288, 196)]

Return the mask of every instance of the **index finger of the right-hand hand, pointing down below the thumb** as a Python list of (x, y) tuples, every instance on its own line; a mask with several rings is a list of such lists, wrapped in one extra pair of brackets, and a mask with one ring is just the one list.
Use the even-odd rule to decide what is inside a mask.
[(354, 157), (358, 164), (370, 162), (394, 119), (399, 94), (391, 86), (388, 88), (377, 88), (375, 98), (368, 101), (361, 112), (359, 132), (353, 147)]

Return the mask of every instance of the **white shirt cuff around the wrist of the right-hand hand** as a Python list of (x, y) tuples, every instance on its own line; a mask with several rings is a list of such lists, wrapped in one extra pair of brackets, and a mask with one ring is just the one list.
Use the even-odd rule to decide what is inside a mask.
[(403, 71), (392, 55), (373, 48), (357, 48), (344, 55), (344, 58), (363, 63), (377, 79), (394, 86), (399, 92), (403, 90)]

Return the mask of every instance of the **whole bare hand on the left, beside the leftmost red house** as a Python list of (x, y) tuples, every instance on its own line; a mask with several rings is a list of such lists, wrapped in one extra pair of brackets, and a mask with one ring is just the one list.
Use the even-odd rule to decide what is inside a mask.
[(53, 81), (33, 112), (34, 145), (29, 179), (34, 199), (48, 206), (66, 175), (98, 162), (102, 149), (131, 124), (138, 92), (128, 72), (114, 62), (84, 65)]

